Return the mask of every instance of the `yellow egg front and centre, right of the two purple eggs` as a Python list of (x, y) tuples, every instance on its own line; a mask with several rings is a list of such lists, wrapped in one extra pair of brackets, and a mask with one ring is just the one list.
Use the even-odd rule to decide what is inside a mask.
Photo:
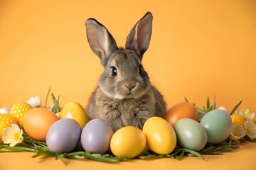
[(125, 126), (117, 130), (110, 140), (110, 149), (116, 157), (132, 159), (141, 154), (145, 147), (144, 133), (134, 126)]

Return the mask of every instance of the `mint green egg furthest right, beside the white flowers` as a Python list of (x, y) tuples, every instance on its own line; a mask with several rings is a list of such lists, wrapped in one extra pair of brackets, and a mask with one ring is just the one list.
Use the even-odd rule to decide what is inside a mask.
[(232, 120), (227, 112), (216, 109), (203, 115), (200, 124), (206, 130), (207, 142), (214, 145), (229, 137)]

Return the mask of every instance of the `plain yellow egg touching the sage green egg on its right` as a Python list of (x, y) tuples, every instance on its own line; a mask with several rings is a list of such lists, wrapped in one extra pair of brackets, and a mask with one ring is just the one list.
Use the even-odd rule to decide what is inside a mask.
[(169, 154), (176, 147), (174, 128), (164, 118), (151, 117), (144, 123), (146, 145), (157, 154)]

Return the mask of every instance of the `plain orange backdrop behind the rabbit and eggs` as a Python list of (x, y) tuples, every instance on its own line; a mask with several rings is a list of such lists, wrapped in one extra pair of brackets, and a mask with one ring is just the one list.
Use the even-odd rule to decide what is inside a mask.
[(86, 106), (102, 72), (86, 19), (124, 46), (146, 11), (154, 21), (143, 64), (168, 108), (184, 96), (202, 107), (216, 95), (218, 106), (243, 100), (240, 108), (256, 111), (256, 2), (228, 0), (0, 1), (0, 107), (34, 95), (44, 105), (50, 86), (61, 106)]

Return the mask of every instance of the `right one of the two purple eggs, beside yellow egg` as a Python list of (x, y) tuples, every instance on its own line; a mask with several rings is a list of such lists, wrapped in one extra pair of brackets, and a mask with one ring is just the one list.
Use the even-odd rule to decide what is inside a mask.
[(82, 147), (85, 151), (105, 154), (110, 149), (112, 135), (113, 130), (105, 120), (99, 118), (90, 120), (82, 130)]

